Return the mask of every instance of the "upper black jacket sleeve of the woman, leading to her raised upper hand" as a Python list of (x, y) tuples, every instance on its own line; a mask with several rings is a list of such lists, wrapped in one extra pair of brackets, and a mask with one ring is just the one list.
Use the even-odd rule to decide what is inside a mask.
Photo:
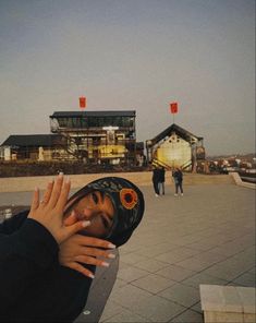
[(15, 307), (35, 278), (58, 262), (59, 247), (51, 234), (34, 219), (25, 218), (21, 223), (13, 219), (1, 225), (1, 313)]

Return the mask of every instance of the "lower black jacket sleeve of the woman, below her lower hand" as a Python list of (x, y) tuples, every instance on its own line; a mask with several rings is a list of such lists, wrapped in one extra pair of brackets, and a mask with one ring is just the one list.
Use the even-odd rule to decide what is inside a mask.
[[(89, 268), (95, 272), (94, 266)], [(11, 319), (21, 322), (73, 322), (86, 304), (90, 285), (90, 278), (58, 265), (37, 277), (22, 303), (15, 307)]]

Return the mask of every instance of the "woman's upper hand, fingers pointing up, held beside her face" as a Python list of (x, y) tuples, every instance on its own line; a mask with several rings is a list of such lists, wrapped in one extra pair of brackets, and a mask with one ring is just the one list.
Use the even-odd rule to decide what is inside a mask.
[(89, 225), (89, 222), (85, 220), (76, 222), (71, 226), (64, 225), (63, 210), (70, 188), (70, 180), (64, 182), (63, 175), (60, 174), (54, 181), (48, 183), (41, 202), (39, 202), (39, 190), (35, 190), (28, 214), (28, 218), (33, 218), (46, 227), (59, 244)]

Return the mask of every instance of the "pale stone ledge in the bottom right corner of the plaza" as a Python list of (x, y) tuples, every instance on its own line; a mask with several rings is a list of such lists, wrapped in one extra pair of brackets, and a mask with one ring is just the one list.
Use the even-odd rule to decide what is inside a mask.
[(200, 285), (206, 323), (256, 322), (255, 288)]

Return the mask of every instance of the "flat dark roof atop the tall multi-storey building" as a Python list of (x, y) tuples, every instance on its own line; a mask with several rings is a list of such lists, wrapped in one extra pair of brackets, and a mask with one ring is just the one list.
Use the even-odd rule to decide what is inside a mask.
[(111, 111), (57, 111), (50, 116), (53, 118), (72, 118), (72, 117), (135, 117), (135, 110), (111, 110)]

